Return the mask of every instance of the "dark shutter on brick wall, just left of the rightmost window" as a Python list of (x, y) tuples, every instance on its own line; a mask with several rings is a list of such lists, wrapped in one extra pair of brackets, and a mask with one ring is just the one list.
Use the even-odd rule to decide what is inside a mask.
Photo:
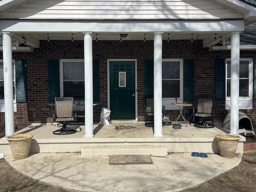
[(225, 100), (225, 59), (215, 60), (215, 100)]

